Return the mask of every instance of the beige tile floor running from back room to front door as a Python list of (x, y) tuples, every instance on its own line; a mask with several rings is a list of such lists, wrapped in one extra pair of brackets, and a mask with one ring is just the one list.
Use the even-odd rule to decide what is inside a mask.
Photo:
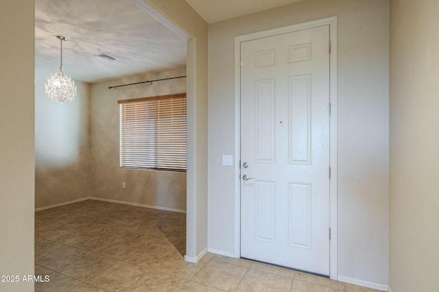
[(35, 291), (375, 291), (215, 254), (187, 263), (181, 213), (86, 200), (35, 222), (35, 273), (50, 278)]

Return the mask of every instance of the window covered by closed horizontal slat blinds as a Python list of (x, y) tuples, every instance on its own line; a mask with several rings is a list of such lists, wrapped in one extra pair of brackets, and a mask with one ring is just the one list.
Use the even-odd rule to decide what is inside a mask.
[(117, 101), (121, 168), (186, 171), (186, 94)]

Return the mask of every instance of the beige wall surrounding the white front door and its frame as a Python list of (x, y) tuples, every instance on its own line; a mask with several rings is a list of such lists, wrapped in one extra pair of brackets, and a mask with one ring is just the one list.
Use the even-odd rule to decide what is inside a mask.
[[(388, 284), (388, 1), (309, 0), (209, 25), (209, 250), (234, 254), (234, 37), (338, 17), (338, 276)], [(235, 153), (238, 155), (238, 153)]]

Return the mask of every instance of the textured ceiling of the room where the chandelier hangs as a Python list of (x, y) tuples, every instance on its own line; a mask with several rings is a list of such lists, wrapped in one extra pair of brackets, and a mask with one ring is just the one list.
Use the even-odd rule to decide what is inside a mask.
[[(60, 67), (73, 79), (95, 82), (186, 65), (186, 41), (131, 0), (36, 0), (35, 67), (47, 77)], [(93, 57), (106, 53), (117, 60)]]

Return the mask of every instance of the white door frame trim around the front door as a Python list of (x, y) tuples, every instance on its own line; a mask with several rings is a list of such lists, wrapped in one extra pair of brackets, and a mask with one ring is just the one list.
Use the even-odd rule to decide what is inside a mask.
[(278, 34), (287, 34), (289, 32), (311, 29), (323, 25), (329, 25), (329, 40), (331, 40), (331, 53), (329, 54), (329, 102), (331, 103), (331, 115), (329, 116), (329, 165), (331, 169), (331, 179), (329, 181), (329, 228), (331, 228), (331, 240), (329, 241), (329, 276), (331, 279), (337, 280), (337, 16), (235, 37), (234, 256), (235, 258), (241, 256), (241, 179), (239, 177), (239, 165), (241, 161), (241, 42)]

